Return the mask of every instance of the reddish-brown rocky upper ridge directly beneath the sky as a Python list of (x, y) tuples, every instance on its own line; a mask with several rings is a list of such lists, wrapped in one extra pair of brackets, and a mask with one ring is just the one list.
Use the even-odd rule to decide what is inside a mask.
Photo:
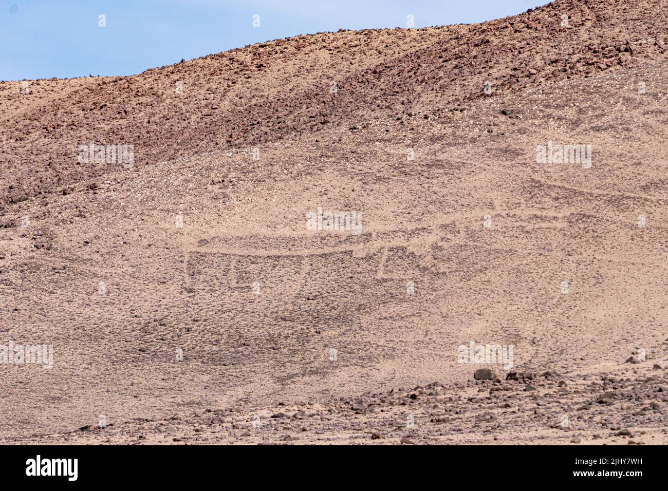
[(77, 162), (89, 142), (133, 144), (142, 166), (665, 60), (666, 16), (658, 1), (564, 0), (482, 24), (303, 35), (132, 77), (34, 81), (29, 94), (1, 82), (0, 204), (108, 172)]

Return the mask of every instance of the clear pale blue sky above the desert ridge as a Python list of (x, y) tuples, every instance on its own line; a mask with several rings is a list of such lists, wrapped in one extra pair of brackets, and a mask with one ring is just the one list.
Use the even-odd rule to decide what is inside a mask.
[[(319, 31), (472, 23), (546, 0), (0, 0), (0, 80), (132, 75)], [(260, 26), (253, 27), (253, 15)], [(106, 16), (106, 27), (99, 16)]]

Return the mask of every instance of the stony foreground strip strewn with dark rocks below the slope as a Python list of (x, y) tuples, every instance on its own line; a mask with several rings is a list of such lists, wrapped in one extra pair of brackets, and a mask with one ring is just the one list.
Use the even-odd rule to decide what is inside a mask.
[[(637, 359), (636, 362), (638, 363)], [(665, 365), (667, 361), (663, 361)], [(510, 372), (507, 379), (398, 387), (327, 404), (211, 408), (3, 440), (19, 444), (668, 443), (668, 373), (655, 361), (607, 375)]]

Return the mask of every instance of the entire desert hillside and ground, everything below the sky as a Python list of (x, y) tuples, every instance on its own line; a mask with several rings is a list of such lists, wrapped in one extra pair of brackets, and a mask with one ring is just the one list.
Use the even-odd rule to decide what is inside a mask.
[(665, 444), (667, 13), (0, 83), (0, 442)]

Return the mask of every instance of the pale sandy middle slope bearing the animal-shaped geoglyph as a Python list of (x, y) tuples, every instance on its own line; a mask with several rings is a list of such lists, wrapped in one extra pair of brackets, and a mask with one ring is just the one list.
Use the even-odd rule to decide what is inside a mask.
[[(663, 111), (661, 73), (488, 99), (456, 124), (416, 114), (409, 134), (359, 122), (263, 146), (259, 161), (206, 154), (14, 205), (32, 219), (3, 231), (5, 337), (59, 354), (49, 371), (8, 372), (5, 434), (453, 387), (478, 367), (457, 362), (470, 340), (514, 345), (516, 369), (568, 376), (624, 370), (638, 349), (643, 366), (664, 363), (665, 126), (647, 116)], [(620, 118), (645, 122), (632, 144), (599, 130)], [(592, 168), (536, 164), (548, 138), (591, 142)], [(318, 206), (362, 210), (362, 233), (306, 230)]]

